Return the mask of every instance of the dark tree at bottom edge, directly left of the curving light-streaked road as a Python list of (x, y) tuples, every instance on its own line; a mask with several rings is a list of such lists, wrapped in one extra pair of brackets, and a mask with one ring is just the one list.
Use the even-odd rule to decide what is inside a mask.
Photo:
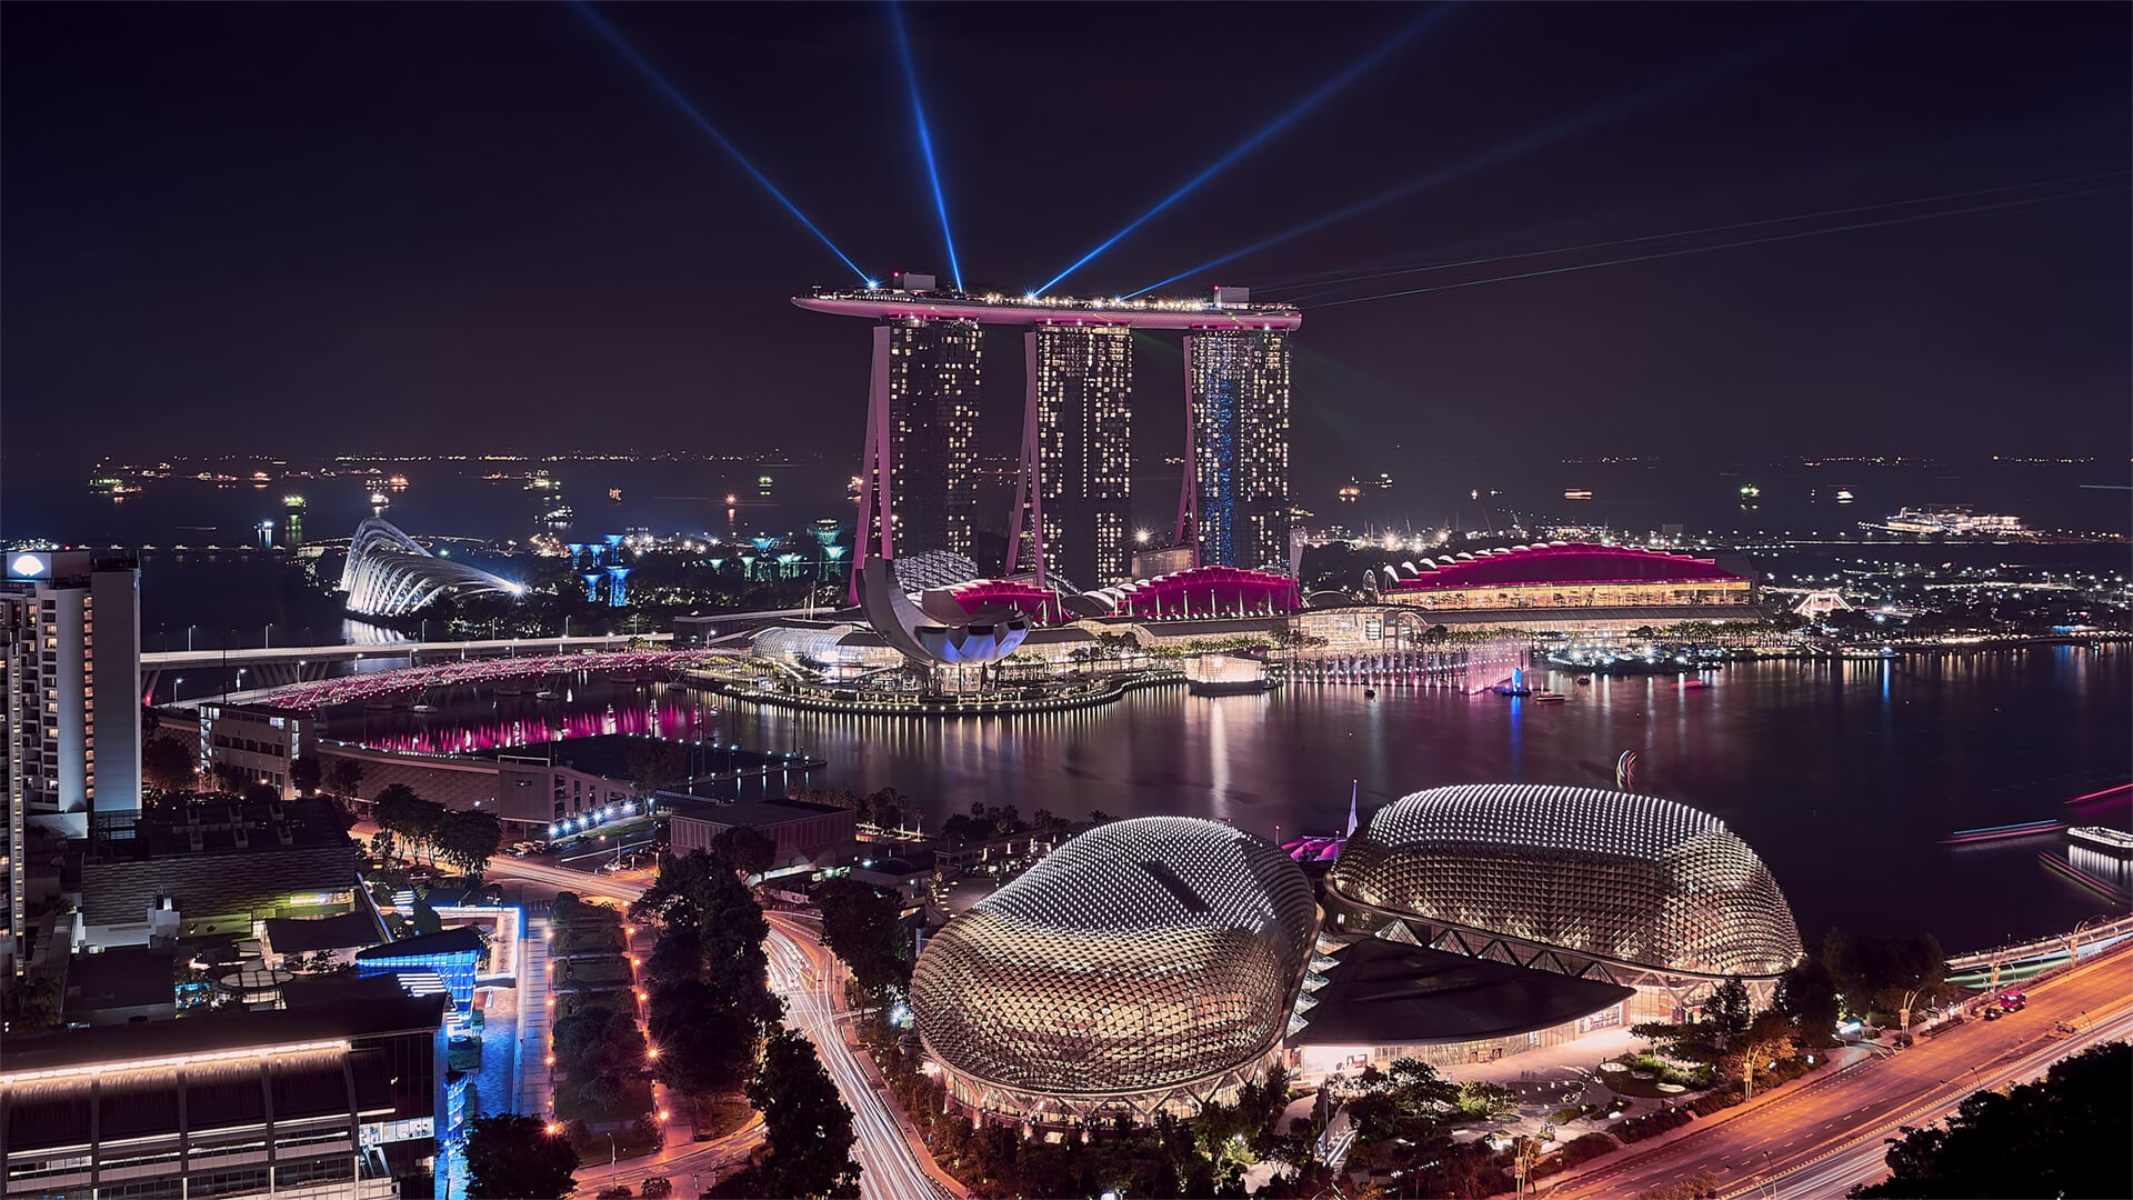
[(806, 1038), (785, 1027), (770, 1033), (764, 1065), (749, 1083), (749, 1102), (764, 1115), (768, 1153), (757, 1168), (761, 1196), (860, 1194), (851, 1108), (836, 1095)]

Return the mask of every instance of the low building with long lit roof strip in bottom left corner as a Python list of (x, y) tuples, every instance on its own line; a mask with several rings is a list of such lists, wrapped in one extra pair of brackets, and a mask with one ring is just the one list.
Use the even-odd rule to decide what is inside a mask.
[(442, 997), (311, 986), (301, 1008), (11, 1036), (9, 1196), (442, 1194), (463, 1093)]

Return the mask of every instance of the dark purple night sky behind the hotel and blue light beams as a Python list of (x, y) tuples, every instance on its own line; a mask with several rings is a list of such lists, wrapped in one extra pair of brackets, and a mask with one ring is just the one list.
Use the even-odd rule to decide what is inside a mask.
[[(602, 13), (866, 271), (945, 275), (885, 6)], [(1423, 13), (907, 6), (964, 282), (1043, 284)], [(2129, 13), (1470, 4), (1058, 290), (1348, 207), (1169, 290), (2007, 188), (1322, 299), (2052, 199), (1305, 301), (1299, 470), (1743, 442), (2122, 463)], [(857, 444), (866, 331), (787, 303), (851, 271), (567, 6), (9, 4), (0, 51), (9, 491), (100, 453)], [(1175, 408), (1175, 372), (1141, 354), (1145, 404)], [(1020, 376), (996, 337), (988, 444)]]

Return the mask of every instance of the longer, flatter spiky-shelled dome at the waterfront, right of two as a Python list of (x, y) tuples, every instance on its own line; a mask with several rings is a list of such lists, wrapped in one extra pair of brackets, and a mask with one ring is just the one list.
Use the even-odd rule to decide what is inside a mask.
[(1414, 792), (1348, 839), (1327, 886), (1335, 905), (1414, 918), (1425, 942), (1508, 937), (1613, 965), (1615, 978), (1768, 978), (1800, 959), (1785, 893), (1726, 822), (1632, 792)]

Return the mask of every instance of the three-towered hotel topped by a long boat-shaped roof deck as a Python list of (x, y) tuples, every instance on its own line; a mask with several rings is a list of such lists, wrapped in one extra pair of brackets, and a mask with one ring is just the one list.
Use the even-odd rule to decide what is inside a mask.
[(932, 275), (793, 297), (875, 322), (860, 461), (857, 559), (971, 553), (977, 517), (979, 327), (1022, 327), (1022, 463), (1003, 574), (1092, 589), (1133, 574), (1133, 331), (1177, 329), (1186, 352), (1182, 566), (1288, 562), (1288, 333), (1303, 314), (1212, 301), (966, 295)]

